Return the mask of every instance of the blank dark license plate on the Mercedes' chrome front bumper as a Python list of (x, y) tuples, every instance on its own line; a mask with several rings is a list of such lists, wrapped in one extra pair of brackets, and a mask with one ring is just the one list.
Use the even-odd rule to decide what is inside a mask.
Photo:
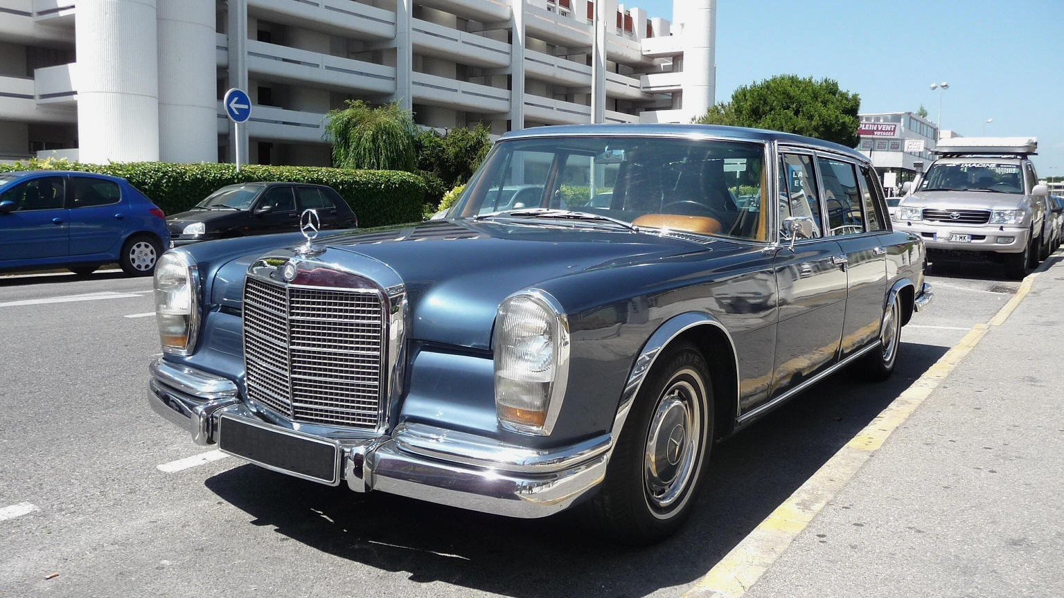
[(339, 447), (326, 439), (223, 414), (218, 419), (218, 448), (267, 469), (322, 484), (339, 483)]

